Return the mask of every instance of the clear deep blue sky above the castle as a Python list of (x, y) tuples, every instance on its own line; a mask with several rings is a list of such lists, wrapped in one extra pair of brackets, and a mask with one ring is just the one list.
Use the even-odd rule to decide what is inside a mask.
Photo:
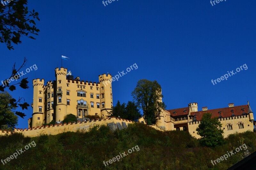
[[(255, 99), (255, 1), (227, 0), (212, 6), (198, 1), (116, 0), (106, 7), (100, 0), (28, 1), (39, 12), (36, 40), (22, 38), (9, 51), (0, 44), (1, 80), (8, 78), (14, 62), (36, 64), (26, 74), (29, 89), (11, 92), (15, 98), (33, 101), (32, 79), (54, 80), (61, 55), (70, 60), (63, 67), (82, 80), (98, 82), (98, 75), (132, 70), (112, 83), (114, 105), (132, 100), (140, 79), (156, 80), (162, 86), (166, 109), (197, 102), (199, 110), (247, 104), (256, 113)], [(246, 64), (248, 69), (213, 85), (217, 79)], [(28, 127), (29, 107), (19, 128)], [(255, 116), (255, 115), (254, 115)]]

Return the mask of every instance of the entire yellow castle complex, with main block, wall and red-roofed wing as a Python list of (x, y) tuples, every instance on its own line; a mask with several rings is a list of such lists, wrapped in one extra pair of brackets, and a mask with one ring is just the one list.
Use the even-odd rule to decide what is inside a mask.
[[(67, 69), (61, 67), (55, 69), (55, 77), (56, 80), (49, 81), (46, 85), (44, 85), (44, 79), (33, 80), (34, 94), (31, 104), (33, 114), (32, 118), (28, 119), (29, 128), (15, 128), (14, 132), (34, 137), (43, 133), (54, 135), (78, 129), (88, 130), (90, 127), (100, 124), (112, 124), (118, 129), (123, 129), (132, 123), (132, 121), (122, 118), (106, 119), (113, 106), (112, 85), (111, 83), (105, 85), (105, 83), (111, 82), (110, 74), (99, 75), (98, 83), (88, 82), (80, 80), (79, 77), (74, 78), (70, 71), (67, 72)], [(202, 107), (202, 111), (198, 111), (197, 103), (189, 103), (188, 107), (162, 110), (160, 120), (151, 127), (158, 130), (183, 130), (200, 138), (196, 128), (200, 124), (203, 114), (207, 112), (221, 122), (224, 137), (236, 132), (252, 131), (253, 123), (256, 126), (252, 109), (247, 101), (247, 105), (234, 106), (234, 103), (230, 103), (228, 107), (219, 109), (208, 110), (208, 107)], [(52, 120), (62, 121), (68, 114), (73, 114), (77, 118), (99, 115), (102, 119), (91, 122), (53, 123), (50, 126), (43, 126), (44, 123), (50, 123)], [(139, 122), (145, 123), (144, 118), (141, 117)], [(4, 134), (10, 133), (6, 130), (0, 133), (0, 135)]]

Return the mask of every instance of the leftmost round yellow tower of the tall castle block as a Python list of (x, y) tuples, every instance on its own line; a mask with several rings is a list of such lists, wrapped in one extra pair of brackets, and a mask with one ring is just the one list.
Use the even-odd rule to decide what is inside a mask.
[(32, 127), (41, 126), (44, 122), (44, 79), (33, 80), (33, 114)]

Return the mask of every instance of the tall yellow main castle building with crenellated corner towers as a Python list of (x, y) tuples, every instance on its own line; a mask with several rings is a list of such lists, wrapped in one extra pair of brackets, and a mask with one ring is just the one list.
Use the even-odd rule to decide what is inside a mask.
[(61, 67), (55, 69), (56, 80), (44, 84), (44, 79), (33, 80), (32, 118), (28, 127), (42, 126), (52, 120), (62, 121), (65, 115), (77, 118), (99, 115), (105, 118), (113, 106), (112, 85), (104, 81), (112, 79), (110, 74), (99, 75), (99, 82), (88, 82), (74, 78), (71, 72)]

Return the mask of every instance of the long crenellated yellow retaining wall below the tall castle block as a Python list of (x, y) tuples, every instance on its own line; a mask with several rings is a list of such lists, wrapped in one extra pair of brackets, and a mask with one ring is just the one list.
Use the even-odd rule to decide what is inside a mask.
[[(83, 130), (83, 131), (88, 131), (91, 127), (95, 125), (108, 125), (111, 130), (116, 130), (118, 129), (124, 129), (127, 128), (128, 124), (133, 123), (130, 120), (122, 119), (122, 118), (116, 118), (116, 117), (111, 117), (109, 119), (97, 119), (97, 120), (92, 120), (91, 122), (77, 122), (77, 123), (64, 123), (64, 124), (55, 124), (55, 125), (46, 125), (44, 126), (37, 126), (33, 127), (32, 129), (16, 129), (14, 128), (13, 133), (22, 133), (24, 134), (25, 137), (37, 137), (40, 136), (41, 134), (47, 134), (47, 135), (57, 135), (59, 133), (63, 132), (76, 132), (77, 130)], [(11, 134), (11, 131), (6, 131), (4, 130), (1, 133), (0, 129), (0, 135), (5, 135), (5, 134)]]

